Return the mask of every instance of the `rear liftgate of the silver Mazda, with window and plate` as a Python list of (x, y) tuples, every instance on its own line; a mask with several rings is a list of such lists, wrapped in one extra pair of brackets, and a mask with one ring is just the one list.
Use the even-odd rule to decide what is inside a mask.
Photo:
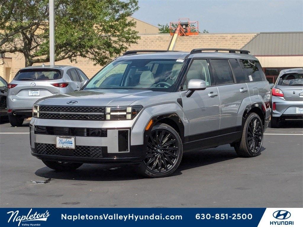
[(11, 84), (17, 84), (10, 89), (13, 101), (35, 101), (42, 97), (59, 94), (59, 88), (53, 83), (61, 82), (61, 71), (53, 69), (20, 70)]

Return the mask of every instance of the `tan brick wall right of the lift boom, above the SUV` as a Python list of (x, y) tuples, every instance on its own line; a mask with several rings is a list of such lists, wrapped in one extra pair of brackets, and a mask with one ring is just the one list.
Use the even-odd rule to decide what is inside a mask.
[(195, 48), (234, 48), (240, 49), (248, 43), (256, 33), (247, 34), (211, 34), (180, 36), (175, 46), (176, 51), (191, 51)]

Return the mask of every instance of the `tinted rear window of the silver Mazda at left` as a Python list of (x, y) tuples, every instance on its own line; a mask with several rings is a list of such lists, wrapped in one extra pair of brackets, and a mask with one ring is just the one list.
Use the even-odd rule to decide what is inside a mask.
[(60, 71), (54, 70), (24, 70), (19, 71), (15, 81), (51, 81), (61, 79)]

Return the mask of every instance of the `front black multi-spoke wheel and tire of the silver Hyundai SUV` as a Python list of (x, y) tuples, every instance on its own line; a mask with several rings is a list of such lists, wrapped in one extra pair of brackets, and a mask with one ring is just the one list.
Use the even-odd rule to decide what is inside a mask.
[(182, 155), (182, 141), (176, 130), (164, 123), (155, 125), (148, 138), (146, 158), (139, 166), (140, 172), (152, 178), (169, 176), (180, 165)]

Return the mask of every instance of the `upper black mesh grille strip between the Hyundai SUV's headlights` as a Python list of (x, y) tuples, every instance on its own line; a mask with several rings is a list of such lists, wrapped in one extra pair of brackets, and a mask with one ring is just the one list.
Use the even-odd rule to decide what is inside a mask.
[(40, 106), (39, 118), (61, 120), (105, 120), (105, 107)]

